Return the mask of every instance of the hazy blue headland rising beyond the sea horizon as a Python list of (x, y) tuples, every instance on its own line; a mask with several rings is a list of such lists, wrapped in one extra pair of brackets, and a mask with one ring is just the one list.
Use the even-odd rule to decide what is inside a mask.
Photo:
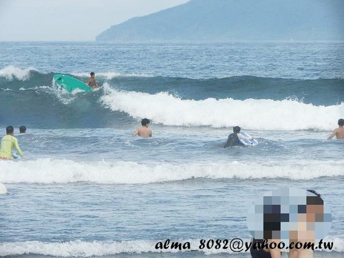
[(343, 0), (191, 0), (114, 25), (96, 41), (343, 41)]

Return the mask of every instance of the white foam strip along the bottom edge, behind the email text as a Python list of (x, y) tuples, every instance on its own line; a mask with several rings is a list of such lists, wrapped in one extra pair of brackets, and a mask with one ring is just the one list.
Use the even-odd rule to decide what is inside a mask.
[[(248, 239), (243, 239), (248, 241)], [(164, 240), (161, 240), (164, 241)], [(233, 253), (228, 249), (215, 249), (214, 247), (209, 250), (200, 250), (199, 239), (183, 239), (174, 241), (185, 243), (190, 242), (190, 250), (199, 250), (207, 255), (215, 253)], [(333, 241), (334, 246), (332, 251), (344, 252), (344, 239), (343, 236), (325, 237), (323, 241)], [(131, 241), (66, 241), (66, 242), (41, 242), (41, 241), (21, 241), (0, 244), (0, 256), (6, 255), (50, 255), (56, 257), (92, 257), (92, 256), (105, 256), (116, 255), (120, 253), (134, 253), (142, 254), (147, 252), (183, 252), (183, 250), (167, 249), (156, 250), (155, 244), (157, 240), (131, 240)], [(187, 252), (189, 250), (184, 250)], [(329, 250), (327, 250), (329, 251)]]

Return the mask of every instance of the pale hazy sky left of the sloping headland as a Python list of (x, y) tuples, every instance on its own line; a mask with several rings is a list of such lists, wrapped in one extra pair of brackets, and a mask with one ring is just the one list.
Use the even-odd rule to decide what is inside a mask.
[(0, 41), (94, 41), (104, 30), (189, 0), (0, 0)]

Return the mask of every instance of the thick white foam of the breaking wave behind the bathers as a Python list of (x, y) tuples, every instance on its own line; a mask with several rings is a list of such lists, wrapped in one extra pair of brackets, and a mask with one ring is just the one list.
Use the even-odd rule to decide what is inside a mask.
[(133, 118), (151, 118), (175, 126), (233, 127), (261, 130), (332, 130), (344, 114), (344, 103), (316, 106), (297, 100), (233, 98), (182, 100), (166, 92), (147, 94), (111, 89), (105, 85), (101, 101), (113, 111)]

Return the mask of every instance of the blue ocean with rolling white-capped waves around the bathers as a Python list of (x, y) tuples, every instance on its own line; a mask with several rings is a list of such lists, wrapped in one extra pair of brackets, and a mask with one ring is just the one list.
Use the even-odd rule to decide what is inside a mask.
[[(89, 72), (98, 91), (52, 81)], [(131, 136), (142, 118), (152, 138)], [(0, 132), (24, 154), (0, 162), (0, 257), (250, 257), (200, 240), (249, 241), (282, 186), (321, 193), (334, 248), (314, 257), (344, 257), (338, 118), (344, 43), (0, 42)], [(224, 149), (236, 125), (259, 144)]]

